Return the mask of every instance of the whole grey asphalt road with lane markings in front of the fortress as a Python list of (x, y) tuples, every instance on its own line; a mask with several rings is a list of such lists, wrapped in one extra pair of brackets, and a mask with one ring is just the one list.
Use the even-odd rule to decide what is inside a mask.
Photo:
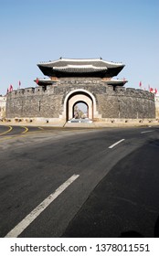
[(159, 237), (159, 127), (0, 125), (0, 237)]

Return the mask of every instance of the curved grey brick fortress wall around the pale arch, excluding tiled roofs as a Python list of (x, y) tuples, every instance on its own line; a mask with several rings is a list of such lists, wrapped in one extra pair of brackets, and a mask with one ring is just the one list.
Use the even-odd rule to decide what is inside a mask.
[(95, 98), (99, 118), (155, 118), (154, 94), (121, 86), (108, 85), (101, 79), (69, 78), (55, 81), (46, 88), (11, 91), (6, 98), (7, 118), (64, 119), (64, 101), (70, 91), (89, 91)]

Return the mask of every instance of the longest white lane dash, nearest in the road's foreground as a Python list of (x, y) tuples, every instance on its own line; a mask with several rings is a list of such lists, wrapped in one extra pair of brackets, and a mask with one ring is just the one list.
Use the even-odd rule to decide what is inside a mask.
[(5, 238), (17, 238), (18, 235), (20, 235), (24, 229), (26, 229), (27, 226), (30, 225), (31, 222), (33, 222), (34, 219), (37, 218), (37, 216), (45, 210), (48, 205), (50, 205), (69, 185), (75, 181), (79, 175), (73, 175), (69, 177), (67, 181), (65, 181), (60, 187), (58, 187), (57, 190), (55, 190), (54, 193), (50, 194), (44, 201), (42, 201), (37, 208), (33, 209), (25, 219), (23, 219), (21, 222), (19, 222), (14, 229), (9, 231), (9, 233), (6, 234)]

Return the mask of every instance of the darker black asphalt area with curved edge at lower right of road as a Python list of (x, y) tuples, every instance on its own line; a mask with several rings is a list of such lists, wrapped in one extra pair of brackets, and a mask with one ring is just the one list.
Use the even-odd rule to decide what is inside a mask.
[(159, 238), (158, 153), (159, 140), (152, 140), (122, 158), (63, 237)]

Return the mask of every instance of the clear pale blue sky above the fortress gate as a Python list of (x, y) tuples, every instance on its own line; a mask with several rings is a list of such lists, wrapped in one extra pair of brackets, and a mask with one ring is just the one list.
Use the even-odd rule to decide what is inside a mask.
[(126, 87), (159, 91), (158, 14), (158, 0), (0, 0), (0, 94), (60, 57), (122, 62)]

